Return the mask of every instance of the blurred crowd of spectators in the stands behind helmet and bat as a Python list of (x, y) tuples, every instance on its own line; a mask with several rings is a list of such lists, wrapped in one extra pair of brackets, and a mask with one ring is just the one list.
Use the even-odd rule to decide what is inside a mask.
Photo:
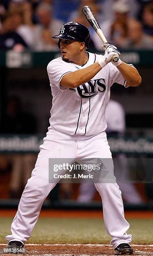
[(87, 26), (90, 49), (101, 40), (81, 12), (89, 5), (109, 42), (119, 49), (153, 49), (151, 0), (1, 0), (0, 50), (58, 51), (52, 36), (69, 21)]

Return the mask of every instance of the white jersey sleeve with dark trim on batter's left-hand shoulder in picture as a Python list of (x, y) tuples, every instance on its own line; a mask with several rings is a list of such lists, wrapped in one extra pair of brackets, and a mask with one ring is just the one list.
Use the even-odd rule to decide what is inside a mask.
[(72, 68), (67, 62), (64, 62), (60, 58), (50, 61), (47, 66), (50, 84), (55, 85), (61, 91), (68, 89), (67, 87), (61, 86), (60, 82), (64, 75), (68, 74), (69, 72), (73, 72)]

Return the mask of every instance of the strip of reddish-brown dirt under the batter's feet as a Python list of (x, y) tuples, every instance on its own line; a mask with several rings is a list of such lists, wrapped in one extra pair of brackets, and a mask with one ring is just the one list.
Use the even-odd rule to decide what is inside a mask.
[[(133, 245), (134, 255), (138, 256), (153, 256), (153, 246), (152, 245)], [(0, 255), (12, 255), (10, 253), (4, 253), (1, 246)], [(17, 255), (17, 254), (13, 254)], [(109, 245), (26, 245), (25, 252), (23, 256), (106, 256), (114, 255), (114, 250)]]

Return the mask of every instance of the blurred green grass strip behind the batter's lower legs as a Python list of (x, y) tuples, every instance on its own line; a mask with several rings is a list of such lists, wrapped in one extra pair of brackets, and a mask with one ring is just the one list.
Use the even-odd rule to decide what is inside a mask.
[[(0, 243), (6, 243), (12, 218), (0, 218)], [(152, 219), (128, 219), (132, 243), (153, 244)], [(39, 218), (28, 243), (109, 243), (100, 218)]]

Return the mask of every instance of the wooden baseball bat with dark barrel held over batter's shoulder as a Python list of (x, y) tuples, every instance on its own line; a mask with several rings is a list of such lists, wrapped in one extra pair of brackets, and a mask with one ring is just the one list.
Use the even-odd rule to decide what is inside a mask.
[[(89, 6), (84, 6), (82, 8), (82, 13), (86, 16), (86, 19), (88, 20), (88, 22), (90, 23), (90, 25), (94, 28), (94, 31), (96, 31), (97, 35), (101, 38), (101, 40), (103, 41), (103, 43), (107, 43), (107, 39), (104, 36), (101, 27), (99, 26), (98, 21), (96, 20), (94, 13), (92, 12), (91, 8)], [(112, 57), (112, 60), (114, 62), (118, 61), (118, 56), (114, 55)]]

